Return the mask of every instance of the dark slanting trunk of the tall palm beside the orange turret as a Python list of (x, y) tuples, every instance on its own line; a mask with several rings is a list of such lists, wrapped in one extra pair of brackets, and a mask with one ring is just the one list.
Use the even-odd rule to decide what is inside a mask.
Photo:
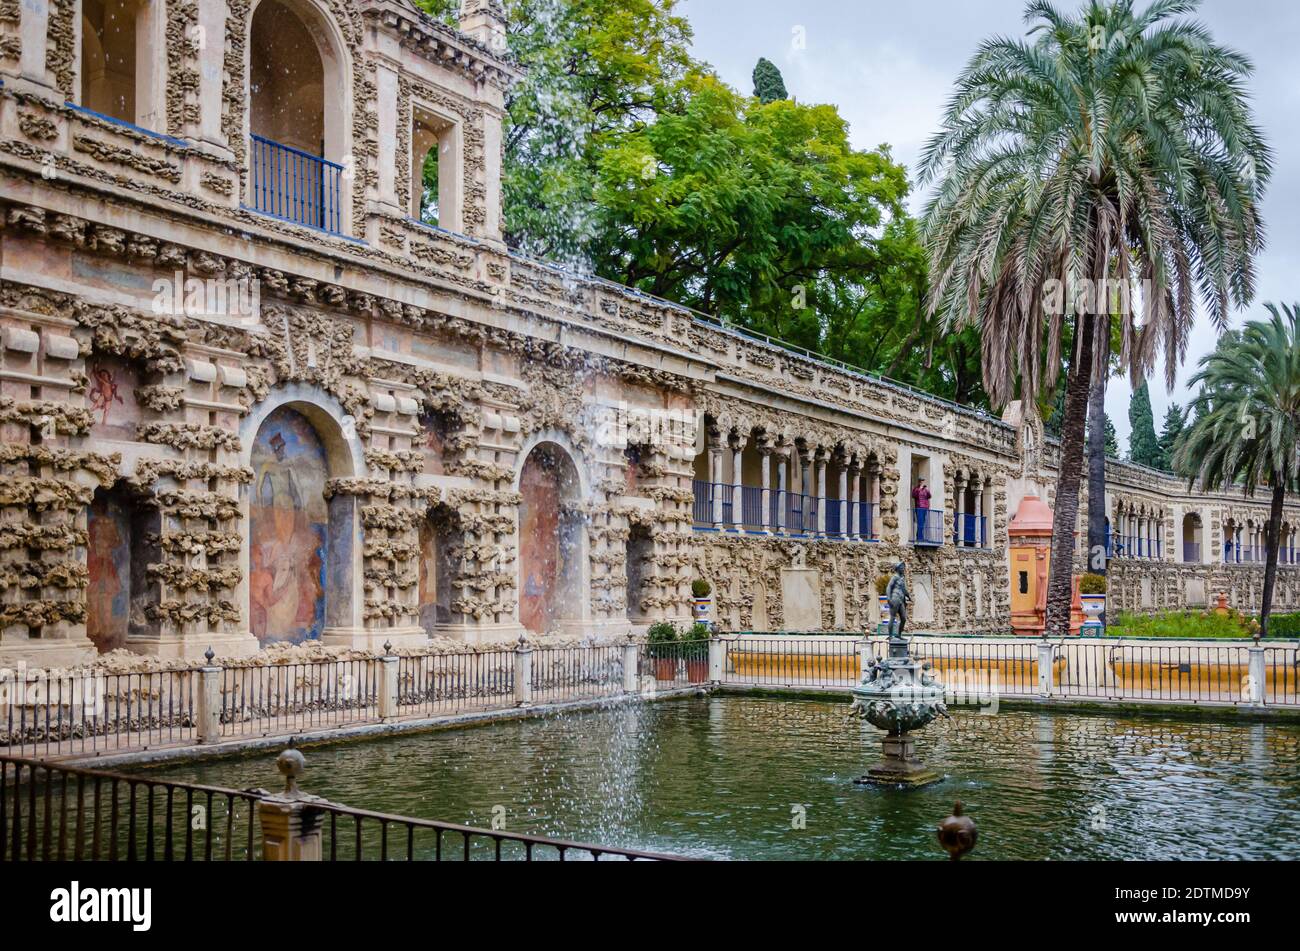
[(1083, 478), (1083, 431), (1088, 420), (1088, 391), (1092, 388), (1093, 314), (1086, 313), (1075, 325), (1079, 349), (1070, 361), (1065, 391), (1065, 420), (1061, 426), (1061, 463), (1057, 494), (1052, 507), (1052, 564), (1048, 574), (1046, 635), (1070, 633), (1070, 602), (1074, 594), (1075, 526), (1079, 522), (1079, 483)]

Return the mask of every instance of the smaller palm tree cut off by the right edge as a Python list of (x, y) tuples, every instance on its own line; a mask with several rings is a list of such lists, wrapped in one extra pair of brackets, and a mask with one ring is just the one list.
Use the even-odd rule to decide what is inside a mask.
[(1201, 357), (1190, 386), (1192, 424), (1174, 450), (1174, 466), (1190, 485), (1227, 490), (1247, 498), (1269, 487), (1268, 561), (1260, 631), (1269, 633), (1273, 586), (1278, 577), (1282, 504), (1300, 483), (1300, 305), (1271, 318), (1249, 321), (1240, 334), (1226, 334), (1213, 353)]

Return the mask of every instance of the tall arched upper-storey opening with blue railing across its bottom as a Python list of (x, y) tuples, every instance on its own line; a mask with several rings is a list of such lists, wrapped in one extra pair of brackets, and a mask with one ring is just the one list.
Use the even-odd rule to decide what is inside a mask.
[(261, 0), (248, 52), (250, 200), (260, 212), (343, 229), (346, 70), (308, 0)]

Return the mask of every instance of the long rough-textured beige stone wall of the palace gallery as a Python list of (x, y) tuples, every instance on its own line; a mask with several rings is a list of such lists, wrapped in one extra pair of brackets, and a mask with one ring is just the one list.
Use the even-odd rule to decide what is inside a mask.
[[(324, 495), (339, 520), (330, 531), (346, 527), (354, 543), (329, 576), (346, 589), (329, 644), (523, 634), (520, 474), (538, 446), (569, 459), (582, 487), (562, 513), (581, 539), (566, 556), (580, 563), (581, 590), (562, 634), (686, 622), (701, 577), (723, 629), (780, 630), (797, 615), (861, 630), (876, 620), (875, 578), (898, 560), (918, 598), (914, 629), (1005, 631), (1008, 524), (1026, 494), (1052, 498), (1056, 448), (1036, 420), (956, 407), (511, 253), (493, 218), (517, 70), (488, 42), (493, 5), (472, 8), (480, 19), (467, 36), (407, 4), (309, 4), (346, 65), (343, 88), (326, 96), (351, 110), (346, 234), (251, 210), (252, 6), (224, 0), (212, 52), (188, 42), (203, 5), (162, 6), (166, 49), (147, 52), (165, 73), (164, 127), (142, 130), (69, 105), (79, 95), (77, 0), (0, 0), (0, 661), (94, 653), (87, 520), (109, 488), (150, 526), (133, 550), (144, 596), (127, 647), (256, 651), (250, 463), (281, 407), (320, 434)], [(44, 26), (23, 32), (25, 17)], [(46, 38), (43, 69), (29, 75), (23, 35)], [(460, 234), (406, 216), (413, 103), (460, 126)], [(247, 308), (174, 307), (191, 283), (256, 295)], [(105, 377), (109, 365), (124, 375)], [(125, 409), (109, 431), (108, 416)], [(696, 530), (697, 459), (714, 451), (870, 472), (878, 537)], [(918, 459), (949, 514), (962, 487), (980, 486), (987, 548), (910, 542)], [(1162, 520), (1165, 539), (1164, 561), (1113, 563), (1117, 607), (1186, 604), (1197, 583), (1242, 607), (1258, 598), (1260, 566), (1222, 564), (1222, 526), (1257, 525), (1262, 505), (1122, 465), (1106, 505), (1113, 518)], [(1193, 511), (1204, 563), (1184, 565), (1178, 520)], [(1300, 511), (1288, 508), (1288, 522)], [(430, 526), (446, 591), (433, 626), (420, 592)], [(1283, 604), (1300, 594), (1297, 570), (1282, 573)], [(786, 604), (786, 591), (801, 603)]]

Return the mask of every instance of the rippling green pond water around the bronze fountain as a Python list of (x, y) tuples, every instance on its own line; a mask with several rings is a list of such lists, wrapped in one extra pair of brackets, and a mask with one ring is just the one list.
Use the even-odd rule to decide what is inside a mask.
[[(711, 859), (940, 859), (935, 826), (954, 799), (979, 824), (972, 859), (1300, 857), (1300, 724), (959, 711), (918, 742), (945, 778), (900, 790), (854, 785), (879, 734), (845, 709), (620, 704), (307, 748), (302, 785), (381, 812), (503, 815), (516, 831)], [(273, 760), (159, 772), (272, 787)]]

